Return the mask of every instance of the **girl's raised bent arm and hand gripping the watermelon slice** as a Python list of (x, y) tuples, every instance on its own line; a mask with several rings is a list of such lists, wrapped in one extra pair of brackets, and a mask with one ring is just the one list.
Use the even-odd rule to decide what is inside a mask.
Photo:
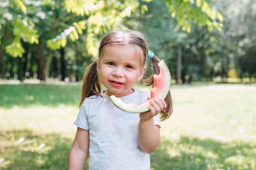
[(158, 99), (150, 104), (148, 112), (140, 113), (138, 145), (144, 153), (153, 153), (160, 143), (159, 126), (154, 124), (153, 117), (164, 109), (165, 101)]

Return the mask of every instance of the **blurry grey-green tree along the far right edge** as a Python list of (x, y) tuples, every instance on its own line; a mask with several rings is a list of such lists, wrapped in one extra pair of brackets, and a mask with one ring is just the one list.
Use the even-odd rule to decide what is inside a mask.
[(217, 62), (220, 75), (227, 77), (230, 70), (236, 69), (241, 78), (256, 76), (252, 66), (256, 64), (256, 2), (216, 0), (215, 5), (224, 17), (223, 31), (215, 34), (215, 44), (221, 49)]

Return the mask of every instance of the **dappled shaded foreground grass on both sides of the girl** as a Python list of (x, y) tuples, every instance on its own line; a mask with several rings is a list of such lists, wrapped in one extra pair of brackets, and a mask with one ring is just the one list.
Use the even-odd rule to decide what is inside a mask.
[[(21, 140), (23, 139), (23, 140)], [(19, 142), (20, 141), (20, 142)], [(60, 134), (33, 134), (30, 130), (0, 133), (1, 170), (67, 169), (72, 139)], [(178, 143), (162, 139), (151, 154), (154, 170), (255, 170), (255, 143), (220, 143), (182, 137)], [(87, 170), (86, 165), (85, 170)]]

